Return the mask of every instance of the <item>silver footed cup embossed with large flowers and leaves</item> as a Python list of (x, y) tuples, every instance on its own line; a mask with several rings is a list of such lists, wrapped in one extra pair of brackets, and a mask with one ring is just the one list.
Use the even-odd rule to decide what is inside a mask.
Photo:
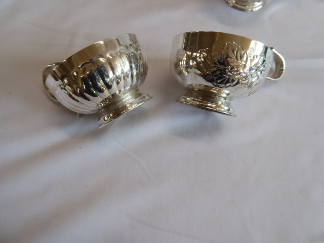
[(231, 101), (254, 94), (265, 80), (281, 78), (285, 60), (247, 37), (197, 31), (174, 38), (171, 70), (187, 90), (178, 102), (236, 116)]

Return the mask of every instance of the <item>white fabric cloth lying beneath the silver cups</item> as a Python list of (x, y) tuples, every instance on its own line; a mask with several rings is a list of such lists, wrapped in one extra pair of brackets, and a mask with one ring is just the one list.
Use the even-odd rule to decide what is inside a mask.
[[(324, 242), (324, 1), (0, 2), (0, 242)], [(175, 35), (210, 30), (273, 46), (279, 82), (237, 117), (176, 103)], [(99, 130), (52, 102), (43, 68), (137, 34), (153, 99)]]

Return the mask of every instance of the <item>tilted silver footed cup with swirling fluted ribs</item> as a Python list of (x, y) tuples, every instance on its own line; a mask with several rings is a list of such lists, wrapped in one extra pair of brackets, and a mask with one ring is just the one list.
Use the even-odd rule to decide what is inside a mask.
[(138, 91), (147, 74), (146, 58), (135, 34), (97, 42), (63, 62), (48, 65), (48, 94), (77, 113), (99, 112), (99, 128), (152, 98)]

